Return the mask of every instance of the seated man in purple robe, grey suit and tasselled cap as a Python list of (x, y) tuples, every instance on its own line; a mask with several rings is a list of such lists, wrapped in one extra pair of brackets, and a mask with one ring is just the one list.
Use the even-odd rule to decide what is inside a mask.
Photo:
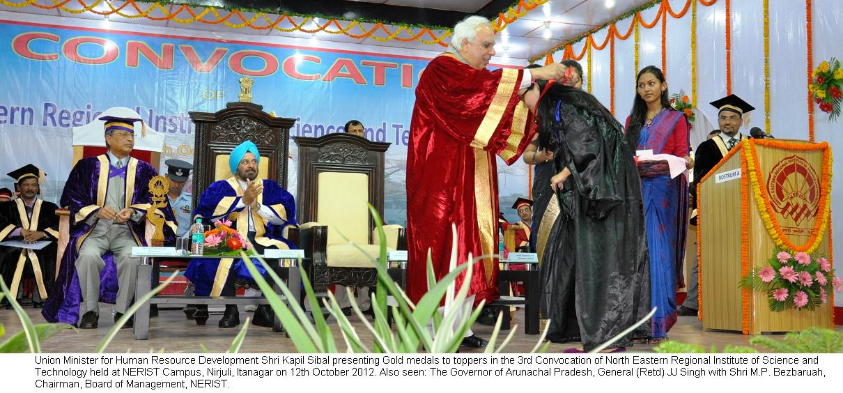
[[(70, 241), (62, 256), (49, 299), (41, 314), (49, 322), (64, 322), (80, 329), (99, 325), (100, 287), (103, 300), (115, 301), (115, 322), (132, 304), (137, 286), (133, 246), (145, 246), (146, 213), (150, 207), (149, 180), (158, 173), (152, 165), (129, 154), (134, 148), (137, 117), (102, 116), (108, 152), (79, 160), (67, 178), (62, 206), (71, 215)], [(174, 241), (175, 218), (168, 207), (156, 211), (166, 219), (164, 236)], [(116, 272), (106, 263), (113, 254)], [(105, 257), (105, 258), (104, 258)], [(81, 320), (79, 315), (82, 315)], [(123, 327), (131, 327), (132, 320)]]

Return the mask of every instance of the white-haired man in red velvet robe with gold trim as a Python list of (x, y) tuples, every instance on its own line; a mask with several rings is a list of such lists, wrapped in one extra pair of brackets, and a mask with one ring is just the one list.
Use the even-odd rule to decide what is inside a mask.
[[(536, 79), (558, 79), (566, 67), (486, 69), (495, 55), (488, 19), (471, 16), (454, 27), (448, 51), (421, 74), (407, 153), (409, 267), (407, 293), (427, 292), (427, 252), (437, 279), (448, 274), (457, 225), (458, 263), (497, 252), (496, 157), (513, 164), (535, 132), (528, 105), (538, 99)], [(529, 95), (529, 97), (524, 97)], [(470, 301), (497, 299), (497, 261), (486, 258), (471, 277)], [(485, 347), (469, 331), (466, 347)]]

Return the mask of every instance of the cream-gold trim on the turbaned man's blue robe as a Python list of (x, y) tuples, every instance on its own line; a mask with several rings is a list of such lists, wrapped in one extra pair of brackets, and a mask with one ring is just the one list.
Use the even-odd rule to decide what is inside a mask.
[[(240, 182), (236, 177), (230, 177), (225, 181), (228, 183), (228, 186), (231, 186), (231, 188), (234, 189), (236, 196), (224, 196), (220, 203), (217, 204), (214, 216), (219, 216), (228, 212), (228, 209), (232, 206), (237, 197), (243, 197), (244, 189), (240, 186)], [(263, 204), (263, 194), (258, 196), (258, 203), (261, 205)], [(284, 220), (287, 219), (287, 210), (284, 208), (284, 205), (278, 203), (277, 205), (272, 205), (271, 208), (278, 213), (278, 216)], [(250, 215), (246, 213), (245, 208), (242, 212), (233, 212), (228, 214), (228, 219), (237, 223), (237, 232), (240, 236), (243, 236), (243, 239), (246, 240), (249, 239), (249, 217)], [(275, 246), (281, 250), (290, 249), (286, 243), (264, 236), (266, 234), (266, 220), (260, 216), (260, 213), (252, 211), (251, 218), (255, 223), (255, 243), (263, 245), (264, 247)], [(234, 258), (220, 258), (219, 265), (217, 265), (217, 273), (214, 274), (213, 277), (211, 296), (219, 296), (220, 293), (223, 293), (223, 286), (225, 286), (225, 282), (228, 281), (228, 272), (230, 272), (231, 265), (233, 263)]]

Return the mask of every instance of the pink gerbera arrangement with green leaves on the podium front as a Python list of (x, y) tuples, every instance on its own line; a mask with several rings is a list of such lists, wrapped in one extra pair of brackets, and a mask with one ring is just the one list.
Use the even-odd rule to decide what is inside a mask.
[(814, 310), (829, 301), (832, 290), (843, 290), (843, 280), (825, 257), (777, 251), (769, 266), (755, 267), (740, 286), (767, 293), (771, 311)]

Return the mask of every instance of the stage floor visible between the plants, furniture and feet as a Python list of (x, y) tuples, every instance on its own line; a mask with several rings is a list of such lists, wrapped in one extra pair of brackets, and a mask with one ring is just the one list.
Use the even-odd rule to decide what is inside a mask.
[[(25, 310), (35, 323), (44, 322), (44, 319), (40, 315), (40, 310), (31, 308), (26, 308)], [(110, 310), (109, 305), (101, 304), (101, 310), (103, 314), (100, 315), (99, 329), (63, 331), (51, 337), (46, 342), (42, 342), (42, 351), (45, 353), (93, 352), (113, 325), (113, 320), (109, 313), (107, 313), (107, 310)], [(241, 321), (244, 321), (246, 316), (250, 315), (251, 313), (246, 313), (242, 307), (240, 308)], [(221, 313), (212, 313), (211, 318), (207, 320), (207, 326), (196, 326), (196, 322), (186, 320), (185, 314), (180, 310), (162, 310), (159, 312), (159, 316), (153, 318), (150, 322), (149, 340), (136, 341), (132, 335), (132, 329), (123, 329), (117, 334), (114, 341), (111, 342), (107, 348), (107, 352), (149, 353), (163, 351), (165, 353), (201, 353), (201, 343), (212, 353), (223, 353), (228, 349), (232, 340), (234, 340), (234, 336), (237, 335), (240, 326), (234, 329), (219, 329), (217, 327), (217, 321), (221, 316)], [(356, 316), (352, 317), (352, 321), (357, 328), (357, 333), (364, 341), (371, 342), (371, 335), (368, 334), (368, 331), (357, 320)], [(5, 341), (9, 336), (21, 330), (20, 320), (13, 310), (0, 310), (0, 323), (6, 329), (6, 335), (0, 337), (0, 342)], [(524, 326), (523, 312), (517, 312), (515, 314), (514, 323)], [(336, 323), (333, 323), (331, 326), (336, 337), (337, 346), (345, 347)], [(843, 326), (836, 327), (838, 331), (843, 330)], [(513, 336), (513, 340), (507, 345), (504, 352), (525, 353), (534, 347), (539, 336), (524, 335), (521, 327), (518, 327), (518, 330), (518, 333)], [(474, 331), (477, 335), (488, 339), (491, 335), (491, 326), (475, 324)], [(502, 332), (502, 335), (507, 333)], [(738, 332), (703, 331), (700, 320), (695, 317), (683, 316), (679, 317), (679, 322), (671, 329), (669, 337), (673, 340), (704, 347), (715, 346), (722, 348), (726, 345), (748, 346), (751, 336), (744, 336)], [(502, 339), (503, 337), (500, 337), (499, 342)], [(569, 347), (577, 347), (577, 343), (550, 344), (548, 352), (561, 353)], [(652, 353), (652, 346), (650, 345), (636, 345), (628, 349), (633, 352)], [(763, 352), (763, 349), (761, 350)], [(266, 327), (250, 326), (240, 352), (294, 353), (296, 352), (296, 348), (293, 346), (293, 342), (284, 336), (283, 333), (273, 333)], [(461, 352), (481, 353), (482, 350), (464, 348)]]

